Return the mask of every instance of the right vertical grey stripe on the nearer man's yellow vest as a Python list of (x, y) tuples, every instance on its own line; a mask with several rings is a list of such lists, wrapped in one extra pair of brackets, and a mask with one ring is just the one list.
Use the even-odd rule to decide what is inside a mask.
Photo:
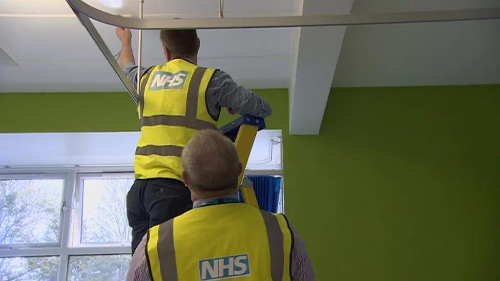
[(273, 281), (283, 279), (283, 233), (281, 232), (278, 218), (270, 212), (260, 210), (267, 232), (267, 240), (269, 241), (269, 255), (271, 260), (271, 278)]

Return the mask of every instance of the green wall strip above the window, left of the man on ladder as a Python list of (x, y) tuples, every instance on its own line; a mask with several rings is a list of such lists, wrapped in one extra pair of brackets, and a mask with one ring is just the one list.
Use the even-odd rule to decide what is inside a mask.
[(0, 93), (0, 104), (2, 133), (139, 131), (124, 93)]

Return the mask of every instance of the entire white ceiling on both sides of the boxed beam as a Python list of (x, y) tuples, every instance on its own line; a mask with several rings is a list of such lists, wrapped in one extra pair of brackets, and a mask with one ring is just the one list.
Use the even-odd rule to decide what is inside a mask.
[[(137, 12), (137, 0), (87, 1), (109, 12)], [(122, 7), (99, 6), (101, 2)], [(144, 12), (149, 17), (215, 17), (217, 3), (145, 0)], [(293, 15), (301, 3), (226, 0), (225, 15)], [(499, 0), (355, 0), (351, 13), (495, 6), (500, 6)], [(110, 49), (117, 52), (114, 29), (96, 25)], [(19, 64), (0, 66), (0, 92), (123, 91), (65, 1), (1, 1), (0, 27), (0, 46)], [(348, 27), (332, 85), (500, 83), (499, 33), (500, 20)], [(200, 64), (223, 69), (246, 87), (289, 88), (296, 40), (293, 29), (200, 31), (199, 36)], [(157, 32), (144, 32), (143, 42), (144, 63), (162, 63)]]

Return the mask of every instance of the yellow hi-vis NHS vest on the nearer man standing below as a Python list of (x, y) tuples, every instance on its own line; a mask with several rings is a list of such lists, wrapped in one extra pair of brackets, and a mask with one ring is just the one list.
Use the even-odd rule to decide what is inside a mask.
[(204, 206), (151, 227), (147, 237), (154, 281), (290, 280), (293, 237), (282, 214), (243, 203)]

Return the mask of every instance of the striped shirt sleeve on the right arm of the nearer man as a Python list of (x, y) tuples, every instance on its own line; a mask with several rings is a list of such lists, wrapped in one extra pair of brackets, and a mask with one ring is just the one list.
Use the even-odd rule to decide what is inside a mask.
[(291, 249), (290, 271), (291, 279), (299, 281), (313, 281), (314, 270), (305, 251), (305, 243), (300, 239), (297, 232), (290, 226), (294, 238), (293, 248)]

